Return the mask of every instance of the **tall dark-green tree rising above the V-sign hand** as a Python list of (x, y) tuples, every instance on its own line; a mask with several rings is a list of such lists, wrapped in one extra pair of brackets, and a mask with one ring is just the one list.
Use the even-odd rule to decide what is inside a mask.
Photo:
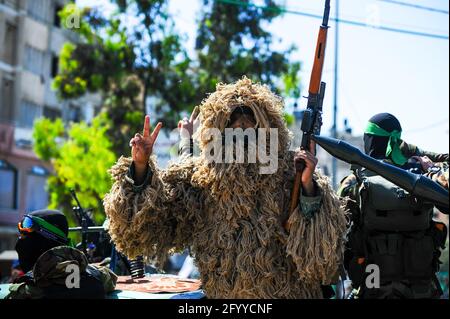
[(73, 4), (59, 13), (61, 21), (81, 17), (80, 27), (72, 29), (81, 41), (64, 45), (53, 88), (62, 99), (101, 93), (103, 111), (112, 121), (113, 149), (127, 154), (129, 139), (142, 129), (146, 97), (155, 97), (158, 116), (153, 120), (175, 127), (179, 112), (191, 107), (194, 90), (190, 60), (173, 30), (167, 1), (113, 2), (116, 11), (108, 17)]

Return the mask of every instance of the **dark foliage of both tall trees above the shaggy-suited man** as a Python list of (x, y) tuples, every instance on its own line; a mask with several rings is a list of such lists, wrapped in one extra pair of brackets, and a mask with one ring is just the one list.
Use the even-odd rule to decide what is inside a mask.
[(176, 127), (180, 113), (192, 110), (217, 83), (243, 75), (285, 97), (298, 97), (300, 64), (290, 61), (294, 47), (274, 50), (267, 31), (281, 14), (274, 10), (274, 0), (265, 0), (271, 10), (250, 0), (239, 2), (244, 5), (203, 0), (193, 57), (175, 31), (167, 0), (112, 2), (116, 11), (108, 17), (73, 4), (60, 12), (62, 21), (76, 13), (81, 16), (80, 27), (73, 29), (81, 42), (64, 46), (54, 88), (63, 99), (86, 92), (103, 94), (117, 153), (128, 142), (120, 134), (129, 139), (137, 131), (135, 124), (140, 125), (124, 120), (129, 113), (137, 118), (136, 112), (146, 112), (146, 97), (152, 97), (153, 120), (163, 121), (166, 128)]

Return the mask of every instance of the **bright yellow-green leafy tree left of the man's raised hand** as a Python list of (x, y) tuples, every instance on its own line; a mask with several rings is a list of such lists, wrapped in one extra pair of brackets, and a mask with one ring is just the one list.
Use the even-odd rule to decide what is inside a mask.
[(94, 220), (104, 220), (102, 199), (112, 185), (107, 170), (116, 160), (106, 134), (110, 125), (104, 113), (95, 117), (91, 125), (73, 123), (67, 130), (60, 119), (42, 118), (35, 122), (34, 152), (40, 159), (50, 161), (55, 170), (47, 182), (50, 208), (72, 216), (76, 203), (70, 189), (75, 189), (83, 206), (93, 209)]

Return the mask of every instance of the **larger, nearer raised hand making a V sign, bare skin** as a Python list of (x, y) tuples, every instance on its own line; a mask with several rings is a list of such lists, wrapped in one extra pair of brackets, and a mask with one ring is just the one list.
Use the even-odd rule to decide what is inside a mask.
[(147, 169), (148, 158), (152, 155), (153, 145), (161, 127), (162, 123), (159, 122), (150, 134), (150, 116), (146, 115), (143, 134), (136, 133), (130, 140), (131, 156), (133, 157), (137, 177), (140, 177), (140, 173), (145, 173)]

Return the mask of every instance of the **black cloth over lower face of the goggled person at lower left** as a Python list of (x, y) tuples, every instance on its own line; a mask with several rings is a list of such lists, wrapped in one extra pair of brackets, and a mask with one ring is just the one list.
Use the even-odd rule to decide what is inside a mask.
[(38, 258), (47, 250), (56, 246), (59, 245), (34, 233), (17, 239), (15, 249), (19, 255), (20, 267), (25, 273), (32, 270)]

